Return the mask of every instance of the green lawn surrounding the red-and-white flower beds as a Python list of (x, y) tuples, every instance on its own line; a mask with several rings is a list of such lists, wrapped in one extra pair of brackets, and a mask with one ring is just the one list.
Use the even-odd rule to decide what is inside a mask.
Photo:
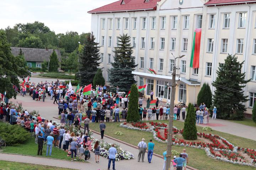
[[(167, 121), (161, 120), (158, 122), (168, 123), (168, 120)], [(146, 142), (149, 142), (150, 139), (153, 139), (153, 134), (150, 132), (121, 128), (119, 125), (120, 125), (120, 123), (118, 123), (118, 122), (106, 123), (105, 134), (108, 136), (117, 138), (119, 140), (125, 141), (127, 143), (130, 143), (134, 146), (138, 145), (138, 142), (140, 142), (142, 137), (145, 138)], [(94, 123), (94, 124), (90, 124), (89, 126), (90, 126), (90, 129), (100, 132), (99, 124)], [(181, 121), (174, 121), (174, 126), (176, 126), (178, 129), (182, 129), (184, 126), (184, 123)], [(197, 129), (198, 129), (198, 131), (202, 131), (202, 127), (197, 126)], [(114, 135), (114, 133), (116, 131), (123, 132), (123, 135), (122, 136)], [(206, 131), (204, 131), (204, 132), (206, 132)], [(206, 132), (206, 133), (209, 133), (209, 132)], [(253, 140), (226, 134), (226, 133), (215, 131), (215, 130), (211, 131), (211, 133), (226, 138), (226, 140), (233, 143), (235, 146), (249, 147), (252, 149), (256, 148), (256, 142)], [(155, 148), (154, 148), (154, 152), (159, 155), (162, 155), (162, 153), (164, 151), (166, 151), (166, 144), (155, 141), (154, 139), (153, 139), (153, 141), (156, 144)], [(203, 149), (172, 146), (172, 150), (176, 150), (179, 153), (182, 152), (183, 148), (186, 148), (187, 153), (189, 155), (189, 164), (188, 165), (192, 166), (194, 168), (197, 168), (199, 170), (223, 170), (223, 169), (255, 170), (255, 168), (253, 168), (253, 167), (234, 165), (231, 163), (225, 163), (225, 162), (222, 162), (222, 161), (219, 161), (216, 159), (209, 158)], [(133, 153), (133, 154), (136, 157), (137, 153)]]

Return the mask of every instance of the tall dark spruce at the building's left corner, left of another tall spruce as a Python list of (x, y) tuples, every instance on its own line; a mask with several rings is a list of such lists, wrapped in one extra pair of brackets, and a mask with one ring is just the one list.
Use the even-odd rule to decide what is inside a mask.
[[(87, 41), (84, 44), (84, 49), (79, 58), (79, 77), (80, 85), (88, 85), (93, 82), (94, 75), (97, 72), (97, 67), (100, 65), (98, 60), (100, 60), (98, 43), (95, 42), (95, 36), (91, 33), (87, 37)], [(87, 74), (88, 73), (88, 74)]]

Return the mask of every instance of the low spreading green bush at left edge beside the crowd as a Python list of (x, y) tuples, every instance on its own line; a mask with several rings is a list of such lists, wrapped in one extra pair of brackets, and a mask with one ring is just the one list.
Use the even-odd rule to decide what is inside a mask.
[(2, 123), (0, 125), (0, 137), (5, 140), (7, 146), (16, 146), (25, 143), (30, 138), (30, 133), (20, 125)]

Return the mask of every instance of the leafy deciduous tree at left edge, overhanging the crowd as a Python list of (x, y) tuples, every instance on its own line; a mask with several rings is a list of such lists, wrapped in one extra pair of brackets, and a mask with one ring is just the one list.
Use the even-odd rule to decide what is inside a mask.
[(0, 30), (0, 56), (0, 93), (6, 92), (7, 98), (16, 97), (13, 85), (19, 87), (20, 82), (17, 75), (20, 78), (25, 78), (30, 73), (27, 71), (24, 56), (15, 57), (11, 54), (10, 44), (7, 42), (3, 30)]

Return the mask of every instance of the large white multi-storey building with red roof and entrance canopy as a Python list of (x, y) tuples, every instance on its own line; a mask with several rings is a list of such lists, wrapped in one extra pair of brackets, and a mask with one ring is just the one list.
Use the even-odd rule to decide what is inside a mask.
[[(245, 87), (247, 113), (256, 99), (256, 0), (120, 0), (89, 11), (91, 31), (100, 44), (103, 76), (108, 80), (118, 36), (131, 37), (138, 67), (133, 72), (138, 85), (148, 84), (146, 95), (170, 100), (174, 56), (177, 83), (175, 103), (196, 104), (203, 83), (216, 79), (219, 63), (228, 54), (245, 61), (242, 72), (252, 79)], [(199, 68), (191, 68), (194, 30), (202, 29)], [(150, 74), (148, 68), (157, 75)]]

